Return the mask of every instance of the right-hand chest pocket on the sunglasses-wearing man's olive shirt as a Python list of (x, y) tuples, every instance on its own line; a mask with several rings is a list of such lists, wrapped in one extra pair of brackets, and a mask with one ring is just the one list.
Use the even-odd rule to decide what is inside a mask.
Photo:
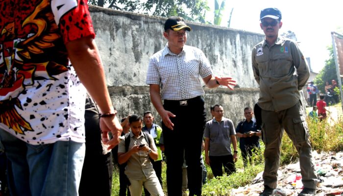
[(270, 59), (270, 66), (274, 77), (293, 75), (294, 65), (291, 53), (277, 53)]

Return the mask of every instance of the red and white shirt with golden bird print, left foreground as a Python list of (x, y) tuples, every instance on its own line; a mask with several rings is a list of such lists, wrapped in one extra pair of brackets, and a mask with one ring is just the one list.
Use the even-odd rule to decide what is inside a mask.
[(0, 10), (0, 128), (34, 145), (85, 142), (85, 89), (65, 44), (95, 37), (87, 0), (1, 0)]

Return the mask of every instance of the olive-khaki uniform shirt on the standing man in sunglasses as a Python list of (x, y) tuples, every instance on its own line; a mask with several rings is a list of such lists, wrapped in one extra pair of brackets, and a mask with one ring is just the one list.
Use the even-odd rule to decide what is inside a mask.
[(252, 49), (251, 58), (260, 85), (258, 105), (275, 112), (294, 106), (300, 99), (299, 90), (310, 76), (298, 46), (285, 38), (278, 38), (272, 46), (265, 40)]

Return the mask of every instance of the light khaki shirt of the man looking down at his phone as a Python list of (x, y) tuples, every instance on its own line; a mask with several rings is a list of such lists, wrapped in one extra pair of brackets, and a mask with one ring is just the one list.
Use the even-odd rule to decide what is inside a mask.
[[(138, 138), (136, 138), (132, 132), (130, 134), (130, 145), (128, 149), (131, 149), (135, 145), (145, 144), (148, 146), (146, 139), (142, 135), (142, 132)], [(155, 142), (151, 135), (149, 135), (150, 148), (153, 151), (157, 151)], [(125, 138), (119, 143), (118, 153), (125, 153)], [(127, 160), (127, 166), (125, 167), (125, 174), (129, 179), (143, 180), (150, 178), (152, 175), (156, 175), (152, 164), (149, 160), (149, 155), (146, 151), (140, 150), (131, 155)]]

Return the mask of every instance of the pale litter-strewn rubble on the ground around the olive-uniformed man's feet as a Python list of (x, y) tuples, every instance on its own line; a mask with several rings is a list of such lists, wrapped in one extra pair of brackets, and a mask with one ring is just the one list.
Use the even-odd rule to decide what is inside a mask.
[[(312, 153), (318, 175), (316, 196), (343, 196), (343, 152)], [(278, 186), (287, 196), (297, 196), (302, 188), (299, 162), (281, 167), (278, 171)], [(232, 190), (232, 196), (259, 196), (263, 191), (262, 172), (252, 184)]]

